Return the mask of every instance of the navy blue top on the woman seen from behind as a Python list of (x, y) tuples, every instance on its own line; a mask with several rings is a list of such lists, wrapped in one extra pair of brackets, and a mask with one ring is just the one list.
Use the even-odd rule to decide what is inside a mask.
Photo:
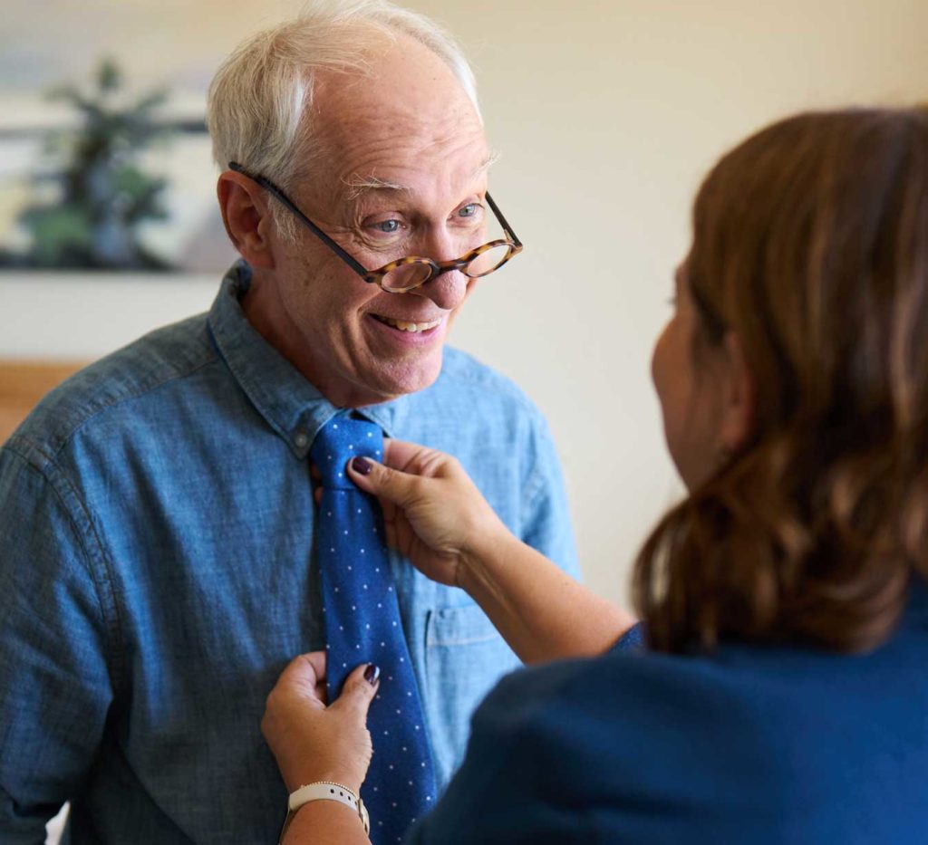
[(866, 655), (629, 650), (509, 675), (415, 845), (928, 843), (928, 589)]

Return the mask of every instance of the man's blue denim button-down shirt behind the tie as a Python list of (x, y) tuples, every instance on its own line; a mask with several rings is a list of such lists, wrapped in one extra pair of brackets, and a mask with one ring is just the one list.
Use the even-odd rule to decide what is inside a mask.
[[(236, 265), (208, 315), (53, 391), (0, 451), (0, 841), (272, 842), (286, 790), (264, 698), (323, 646), (307, 455), (346, 413), (248, 324)], [(576, 572), (543, 418), (445, 351), (432, 387), (365, 409), (457, 455), (522, 539)], [(517, 660), (468, 595), (393, 557), (442, 785)], [(362, 656), (363, 658), (363, 656)]]

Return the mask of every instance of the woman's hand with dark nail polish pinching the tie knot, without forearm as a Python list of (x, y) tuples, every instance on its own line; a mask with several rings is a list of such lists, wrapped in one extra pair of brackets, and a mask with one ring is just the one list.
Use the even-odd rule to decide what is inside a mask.
[(383, 460), (354, 458), (348, 473), (380, 499), (387, 543), (433, 581), (462, 586), (462, 562), (509, 531), (450, 455), (385, 440)]

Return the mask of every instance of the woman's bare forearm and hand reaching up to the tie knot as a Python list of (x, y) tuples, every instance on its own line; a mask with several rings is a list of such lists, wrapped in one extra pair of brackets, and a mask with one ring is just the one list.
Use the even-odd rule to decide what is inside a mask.
[(348, 474), (380, 499), (387, 542), (467, 592), (524, 662), (601, 654), (635, 623), (514, 537), (453, 457), (395, 440), (383, 454)]

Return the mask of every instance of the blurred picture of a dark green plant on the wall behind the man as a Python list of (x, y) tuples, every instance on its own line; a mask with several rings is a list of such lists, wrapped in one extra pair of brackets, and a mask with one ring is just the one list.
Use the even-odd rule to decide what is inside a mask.
[(208, 34), (215, 4), (182, 6), (6, 0), (0, 275), (168, 280), (231, 262), (204, 123), (227, 42)]

